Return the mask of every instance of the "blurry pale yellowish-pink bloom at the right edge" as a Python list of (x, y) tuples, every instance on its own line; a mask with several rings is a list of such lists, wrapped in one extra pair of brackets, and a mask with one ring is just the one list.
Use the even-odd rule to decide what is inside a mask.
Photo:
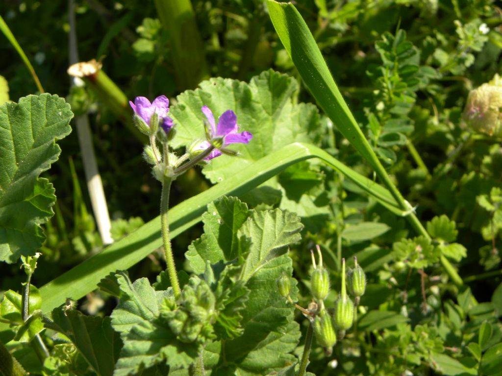
[(463, 118), (476, 132), (502, 137), (502, 78), (493, 79), (471, 90)]

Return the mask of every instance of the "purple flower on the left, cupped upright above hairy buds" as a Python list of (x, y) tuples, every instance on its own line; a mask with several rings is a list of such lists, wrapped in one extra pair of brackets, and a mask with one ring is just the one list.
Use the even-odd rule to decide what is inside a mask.
[[(153, 103), (150, 103), (148, 98), (136, 97), (134, 103), (129, 101), (129, 104), (133, 108), (135, 114), (138, 115), (149, 128), (156, 129), (158, 125), (160, 125), (162, 129), (164, 129), (164, 132), (168, 133), (173, 127), (173, 119), (167, 116), (169, 111), (169, 99), (167, 99), (165, 95), (155, 98)], [(159, 124), (151, 124), (154, 114), (158, 116)]]

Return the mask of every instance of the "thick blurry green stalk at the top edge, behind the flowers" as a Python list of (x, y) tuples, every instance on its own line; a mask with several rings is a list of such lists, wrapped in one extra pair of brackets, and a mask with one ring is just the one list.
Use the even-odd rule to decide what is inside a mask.
[(157, 16), (170, 35), (176, 79), (181, 90), (194, 89), (206, 75), (204, 44), (190, 0), (155, 0)]

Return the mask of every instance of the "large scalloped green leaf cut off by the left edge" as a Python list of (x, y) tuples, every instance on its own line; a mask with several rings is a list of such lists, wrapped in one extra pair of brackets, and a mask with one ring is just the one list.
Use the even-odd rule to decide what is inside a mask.
[(39, 175), (58, 160), (56, 141), (71, 132), (73, 113), (56, 95), (29, 95), (0, 106), (0, 261), (33, 256), (54, 214), (52, 184)]

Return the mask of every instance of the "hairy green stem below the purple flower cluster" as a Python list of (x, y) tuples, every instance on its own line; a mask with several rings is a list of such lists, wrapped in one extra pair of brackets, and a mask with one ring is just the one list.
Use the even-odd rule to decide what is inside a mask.
[(178, 281), (178, 273), (174, 264), (173, 249), (171, 248), (171, 239), (169, 239), (169, 192), (171, 191), (170, 178), (165, 178), (162, 182), (162, 195), (160, 200), (160, 225), (162, 232), (162, 241), (164, 242), (164, 252), (166, 253), (167, 272), (173, 287), (174, 297), (178, 298), (181, 295), (180, 283)]

